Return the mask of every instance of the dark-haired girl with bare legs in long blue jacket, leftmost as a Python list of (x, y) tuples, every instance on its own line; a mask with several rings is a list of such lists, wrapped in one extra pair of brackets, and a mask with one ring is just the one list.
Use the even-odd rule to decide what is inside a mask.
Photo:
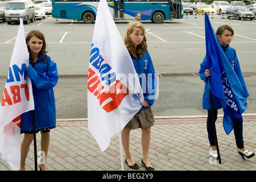
[[(34, 97), (35, 130), (41, 131), (41, 151), (45, 153), (39, 168), (47, 170), (45, 162), (50, 143), (50, 129), (56, 125), (55, 98), (53, 87), (58, 82), (57, 65), (46, 55), (45, 36), (39, 30), (31, 30), (26, 36), (29, 49), (29, 67), (26, 76), (31, 78)], [(25, 170), (25, 160), (29, 146), (33, 141), (33, 124), (31, 111), (21, 115), (21, 133), (25, 133), (21, 144), (21, 167)]]

